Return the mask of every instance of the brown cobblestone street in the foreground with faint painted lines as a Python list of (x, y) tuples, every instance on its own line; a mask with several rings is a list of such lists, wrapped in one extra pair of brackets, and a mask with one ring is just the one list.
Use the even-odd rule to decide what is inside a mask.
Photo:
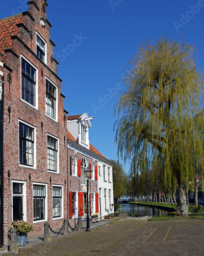
[(18, 255), (200, 256), (204, 255), (203, 230), (202, 220), (139, 221), (124, 218), (90, 232), (76, 232), (52, 243), (23, 248)]

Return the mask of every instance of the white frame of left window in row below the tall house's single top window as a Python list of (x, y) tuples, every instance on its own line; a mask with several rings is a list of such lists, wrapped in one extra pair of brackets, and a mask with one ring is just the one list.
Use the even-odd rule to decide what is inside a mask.
[[(25, 62), (28, 62), (28, 64), (36, 71), (36, 84), (35, 84), (35, 106), (27, 102), (26, 100), (22, 99), (22, 92), (21, 92), (21, 87), (22, 87), (22, 59)], [(29, 61), (27, 58), (25, 58), (23, 55), (20, 55), (20, 99), (27, 103), (28, 105), (32, 106), (32, 108), (38, 110), (38, 69)]]

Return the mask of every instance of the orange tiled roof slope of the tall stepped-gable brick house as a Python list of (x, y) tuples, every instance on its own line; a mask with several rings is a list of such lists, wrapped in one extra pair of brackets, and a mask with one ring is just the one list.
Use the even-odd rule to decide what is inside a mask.
[(23, 23), (22, 13), (0, 19), (0, 51), (4, 52), (4, 49), (12, 47), (11, 36), (18, 35), (18, 28), (16, 24)]

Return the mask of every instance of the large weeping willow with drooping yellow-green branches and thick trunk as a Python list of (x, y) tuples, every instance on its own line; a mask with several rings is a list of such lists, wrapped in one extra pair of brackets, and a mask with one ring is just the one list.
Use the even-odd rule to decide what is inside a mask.
[(140, 44), (129, 65), (115, 104), (118, 155), (131, 159), (140, 175), (152, 162), (162, 166), (166, 191), (178, 188), (177, 211), (187, 216), (188, 190), (204, 160), (203, 83), (195, 47), (161, 36)]

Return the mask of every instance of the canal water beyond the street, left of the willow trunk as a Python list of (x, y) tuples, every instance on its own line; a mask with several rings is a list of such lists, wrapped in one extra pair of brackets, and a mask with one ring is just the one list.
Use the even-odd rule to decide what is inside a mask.
[[(152, 207), (143, 205), (120, 204), (120, 214), (152, 216)], [(168, 211), (156, 208), (156, 215), (168, 215)]]

